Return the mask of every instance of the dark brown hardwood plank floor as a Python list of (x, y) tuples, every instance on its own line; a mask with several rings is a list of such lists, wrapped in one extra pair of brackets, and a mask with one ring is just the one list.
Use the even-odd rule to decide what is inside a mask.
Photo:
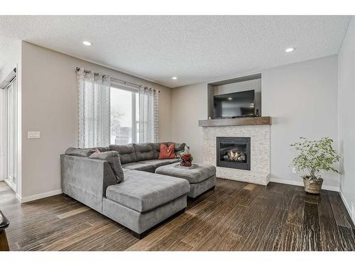
[[(1, 184), (2, 183), (2, 184)], [(18, 204), (0, 182), (11, 250), (355, 250), (355, 227), (337, 192), (217, 179), (185, 214), (138, 240), (62, 195)]]

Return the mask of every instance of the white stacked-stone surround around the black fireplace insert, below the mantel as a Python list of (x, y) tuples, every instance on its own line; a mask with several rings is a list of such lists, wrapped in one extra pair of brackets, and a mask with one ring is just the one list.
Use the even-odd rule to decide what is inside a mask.
[(251, 170), (217, 167), (217, 177), (267, 185), (270, 181), (270, 125), (203, 126), (203, 163), (217, 167), (217, 137), (250, 137)]

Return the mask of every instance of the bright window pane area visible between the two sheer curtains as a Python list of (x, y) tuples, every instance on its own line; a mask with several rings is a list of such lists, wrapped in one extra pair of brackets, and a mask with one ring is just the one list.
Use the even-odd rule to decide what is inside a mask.
[(138, 93), (111, 85), (111, 144), (137, 143), (139, 140)]

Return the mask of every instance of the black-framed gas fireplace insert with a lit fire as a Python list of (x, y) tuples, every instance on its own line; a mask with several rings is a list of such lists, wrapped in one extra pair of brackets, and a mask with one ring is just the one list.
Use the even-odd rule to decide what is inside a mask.
[(250, 138), (217, 137), (217, 166), (250, 170)]

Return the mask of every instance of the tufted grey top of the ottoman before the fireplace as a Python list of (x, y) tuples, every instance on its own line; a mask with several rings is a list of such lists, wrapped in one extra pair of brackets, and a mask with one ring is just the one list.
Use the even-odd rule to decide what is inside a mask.
[(198, 167), (187, 170), (180, 167), (175, 167), (175, 165), (176, 164), (158, 167), (155, 172), (157, 174), (165, 174), (171, 177), (183, 178), (191, 184), (202, 182), (203, 180), (209, 177), (213, 177), (216, 174), (216, 167), (214, 167), (213, 165), (199, 164)]

